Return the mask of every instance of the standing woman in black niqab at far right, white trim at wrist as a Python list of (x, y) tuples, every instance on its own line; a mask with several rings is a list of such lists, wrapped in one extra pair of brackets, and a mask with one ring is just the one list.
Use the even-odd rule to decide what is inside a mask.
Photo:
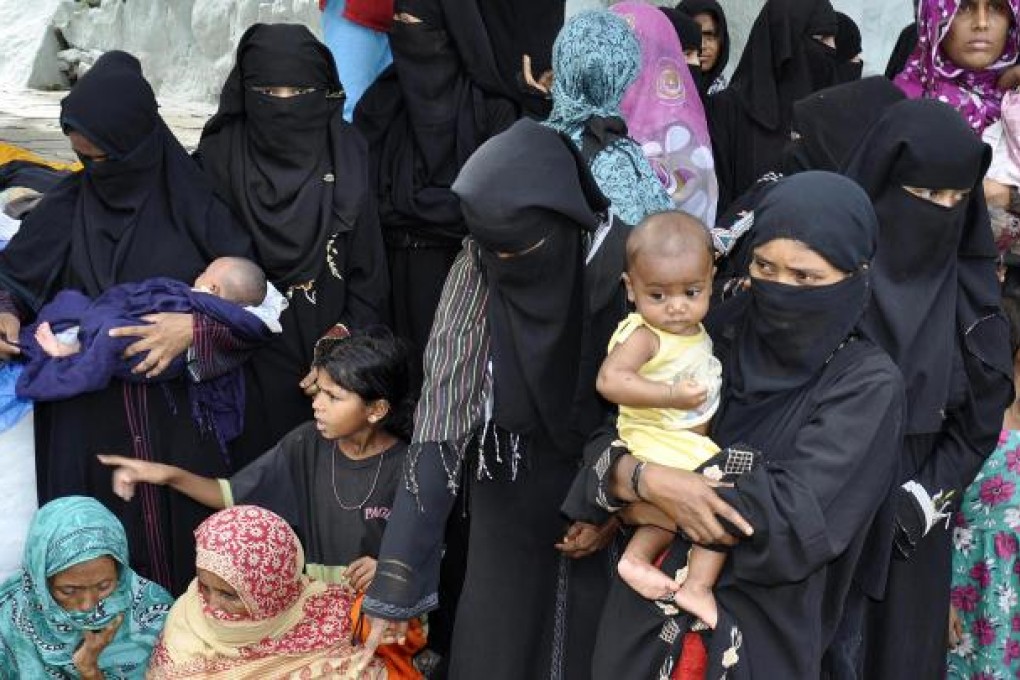
[[(1012, 396), (1009, 325), (981, 191), (988, 158), (952, 107), (910, 100), (885, 112), (847, 167), (881, 224), (863, 328), (897, 362), (908, 398), (892, 500), (896, 559), (884, 599), (868, 612), (865, 677), (945, 672), (945, 520), (994, 449)], [(937, 190), (964, 197), (939, 204)]]

